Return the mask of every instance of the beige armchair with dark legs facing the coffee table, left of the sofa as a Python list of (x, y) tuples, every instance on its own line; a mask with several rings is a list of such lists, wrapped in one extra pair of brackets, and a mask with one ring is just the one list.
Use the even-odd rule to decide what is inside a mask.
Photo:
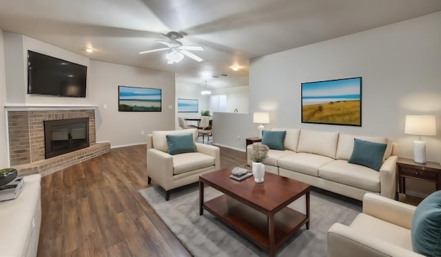
[[(167, 154), (167, 134), (192, 133), (196, 152)], [(147, 183), (152, 180), (165, 189), (165, 200), (170, 190), (199, 180), (199, 176), (220, 169), (219, 147), (196, 142), (196, 129), (154, 131), (147, 135)]]

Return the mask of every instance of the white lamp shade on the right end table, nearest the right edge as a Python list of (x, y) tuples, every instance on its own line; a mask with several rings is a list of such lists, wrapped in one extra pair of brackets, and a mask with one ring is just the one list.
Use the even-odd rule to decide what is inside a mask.
[(418, 136), (435, 136), (435, 116), (407, 115), (404, 133)]

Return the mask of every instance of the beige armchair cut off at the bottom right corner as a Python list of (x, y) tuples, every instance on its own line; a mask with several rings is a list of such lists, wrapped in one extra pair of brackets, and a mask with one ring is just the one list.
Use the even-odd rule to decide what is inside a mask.
[(422, 256), (412, 251), (411, 222), (416, 207), (367, 193), (363, 212), (351, 225), (332, 225), (327, 256)]

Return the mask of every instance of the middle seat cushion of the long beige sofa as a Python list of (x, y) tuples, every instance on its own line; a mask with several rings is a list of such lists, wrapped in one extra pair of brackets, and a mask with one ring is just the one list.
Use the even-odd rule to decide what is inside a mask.
[(300, 172), (309, 176), (318, 176), (318, 168), (334, 161), (333, 158), (318, 154), (296, 153), (289, 154), (278, 160), (278, 167)]

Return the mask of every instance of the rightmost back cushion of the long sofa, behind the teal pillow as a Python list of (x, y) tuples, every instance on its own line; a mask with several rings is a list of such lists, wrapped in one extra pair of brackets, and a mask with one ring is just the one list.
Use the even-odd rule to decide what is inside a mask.
[(384, 152), (383, 160), (389, 158), (392, 153), (392, 142), (389, 141), (386, 137), (380, 136), (356, 136), (350, 134), (342, 134), (338, 136), (338, 145), (337, 145), (337, 155), (336, 159), (338, 160), (349, 160), (349, 157), (352, 154), (353, 150), (353, 139), (358, 138), (364, 141), (370, 141), (374, 143), (385, 143), (387, 144), (387, 149)]

